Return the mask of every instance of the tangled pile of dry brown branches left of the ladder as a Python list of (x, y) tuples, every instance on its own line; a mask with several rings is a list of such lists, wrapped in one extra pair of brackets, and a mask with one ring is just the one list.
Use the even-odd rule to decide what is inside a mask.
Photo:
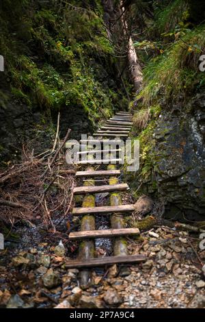
[(23, 147), (22, 162), (0, 172), (1, 220), (40, 220), (56, 230), (72, 207), (75, 170), (66, 164), (63, 151), (69, 134), (70, 129), (59, 147), (55, 141), (53, 149), (40, 155)]

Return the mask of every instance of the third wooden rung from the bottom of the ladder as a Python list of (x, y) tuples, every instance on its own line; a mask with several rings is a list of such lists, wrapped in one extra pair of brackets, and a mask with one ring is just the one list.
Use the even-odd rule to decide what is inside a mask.
[(102, 207), (81, 207), (73, 208), (72, 214), (109, 214), (113, 212), (132, 212), (135, 210), (135, 205), (122, 205), (122, 206), (102, 206)]

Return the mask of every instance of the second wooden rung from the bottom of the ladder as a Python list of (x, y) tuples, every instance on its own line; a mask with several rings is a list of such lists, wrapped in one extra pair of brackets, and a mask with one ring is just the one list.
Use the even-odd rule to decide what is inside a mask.
[(133, 236), (139, 235), (138, 228), (121, 228), (111, 230), (83, 230), (81, 232), (70, 232), (69, 238), (75, 239), (87, 239), (87, 238), (111, 238), (115, 236)]

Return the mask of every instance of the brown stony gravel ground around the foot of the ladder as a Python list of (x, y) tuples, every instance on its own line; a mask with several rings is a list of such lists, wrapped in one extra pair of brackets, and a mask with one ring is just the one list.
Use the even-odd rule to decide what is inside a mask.
[[(1, 308), (205, 308), (205, 251), (198, 234), (159, 227), (128, 240), (146, 262), (93, 271), (81, 290), (78, 270), (66, 270), (66, 248), (48, 243), (1, 251)], [(98, 256), (106, 250), (98, 249)]]

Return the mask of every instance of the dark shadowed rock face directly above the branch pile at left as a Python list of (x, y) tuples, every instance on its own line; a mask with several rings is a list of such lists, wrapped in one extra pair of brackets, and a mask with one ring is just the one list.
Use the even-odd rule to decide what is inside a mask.
[[(10, 92), (8, 95), (10, 97)], [(2, 108), (0, 101), (1, 160), (14, 160), (18, 157), (18, 148), (31, 139), (35, 140), (35, 151), (48, 149), (52, 139), (51, 119), (46, 119), (46, 125), (43, 125), (42, 119), (42, 114), (35, 108), (32, 110), (15, 99), (8, 102), (6, 108)]]

